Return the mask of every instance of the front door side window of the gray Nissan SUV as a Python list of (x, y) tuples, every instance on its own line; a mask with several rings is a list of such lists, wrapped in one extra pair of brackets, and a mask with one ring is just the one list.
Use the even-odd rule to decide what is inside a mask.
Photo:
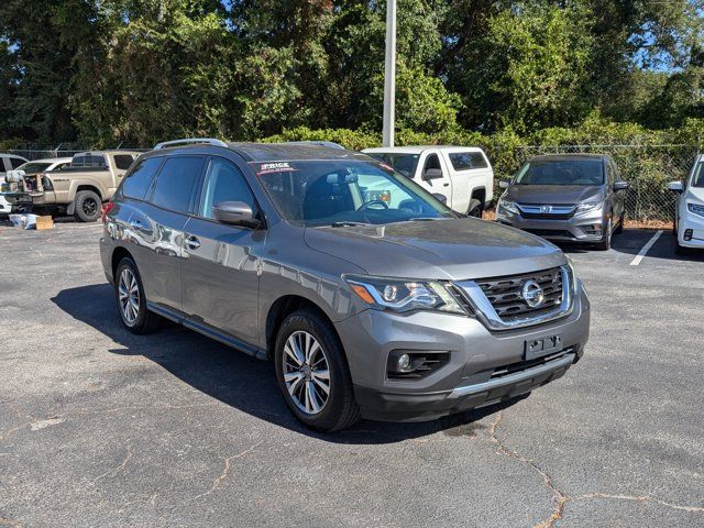
[(213, 206), (223, 201), (243, 201), (253, 211), (256, 210), (254, 196), (240, 169), (226, 160), (215, 158), (208, 167), (198, 215), (213, 219)]

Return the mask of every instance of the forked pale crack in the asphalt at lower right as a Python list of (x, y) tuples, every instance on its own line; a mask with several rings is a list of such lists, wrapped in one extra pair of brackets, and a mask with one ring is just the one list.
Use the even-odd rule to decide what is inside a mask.
[(569, 502), (578, 502), (578, 501), (587, 501), (587, 499), (613, 499), (613, 501), (632, 501), (637, 503), (653, 503), (659, 504), (661, 506), (666, 506), (671, 509), (676, 509), (681, 512), (689, 513), (704, 513), (704, 507), (700, 506), (682, 506), (679, 504), (669, 503), (667, 501), (662, 501), (660, 498), (651, 497), (649, 495), (625, 495), (625, 494), (607, 494), (607, 493), (584, 493), (582, 495), (569, 495), (559, 487), (557, 487), (552, 477), (548, 472), (541, 469), (538, 464), (536, 464), (532, 460), (527, 459), (526, 457), (519, 454), (518, 452), (508, 449), (496, 436), (496, 429), (498, 425), (504, 419), (504, 411), (499, 410), (496, 415), (496, 420), (492, 422), (490, 429), (490, 438), (492, 442), (497, 446), (497, 452), (504, 454), (508, 458), (518, 460), (527, 464), (530, 469), (536, 471), (544, 482), (544, 485), (552, 493), (552, 513), (550, 517), (541, 522), (538, 522), (534, 528), (552, 528), (554, 524), (562, 519), (564, 515), (564, 505)]

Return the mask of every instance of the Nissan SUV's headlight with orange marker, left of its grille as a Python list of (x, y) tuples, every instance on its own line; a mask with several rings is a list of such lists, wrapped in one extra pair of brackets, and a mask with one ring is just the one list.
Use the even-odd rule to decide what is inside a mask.
[(466, 315), (466, 311), (441, 283), (344, 275), (352, 292), (371, 308), (399, 314), (433, 310)]

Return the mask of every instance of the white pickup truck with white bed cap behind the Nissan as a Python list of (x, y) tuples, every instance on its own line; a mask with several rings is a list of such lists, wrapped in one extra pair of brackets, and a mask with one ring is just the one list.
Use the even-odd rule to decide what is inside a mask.
[(482, 217), (494, 198), (494, 169), (475, 146), (395, 146), (362, 152), (391, 165), (452, 209)]

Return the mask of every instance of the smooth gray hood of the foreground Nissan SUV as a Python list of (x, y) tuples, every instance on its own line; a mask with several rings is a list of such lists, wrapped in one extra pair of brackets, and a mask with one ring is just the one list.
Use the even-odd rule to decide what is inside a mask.
[(304, 239), (314, 250), (387, 277), (462, 280), (566, 262), (562, 251), (538, 237), (472, 218), (308, 228)]

